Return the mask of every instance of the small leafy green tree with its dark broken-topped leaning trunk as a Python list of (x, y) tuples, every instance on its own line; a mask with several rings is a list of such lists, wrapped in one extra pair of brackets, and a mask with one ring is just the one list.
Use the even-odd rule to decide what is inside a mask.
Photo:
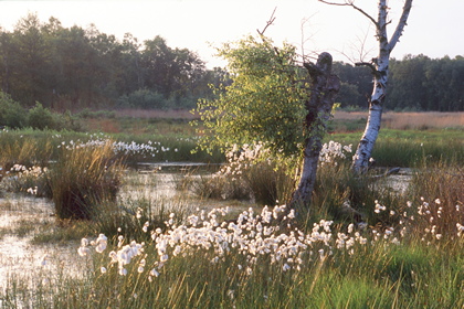
[(232, 84), (214, 88), (215, 98), (198, 103), (204, 126), (200, 145), (228, 150), (263, 141), (275, 158), (303, 160), (289, 205), (308, 205), (339, 79), (331, 75), (328, 53), (316, 64), (300, 66), (294, 46), (277, 49), (260, 35), (261, 41), (249, 36), (219, 50), (229, 61)]

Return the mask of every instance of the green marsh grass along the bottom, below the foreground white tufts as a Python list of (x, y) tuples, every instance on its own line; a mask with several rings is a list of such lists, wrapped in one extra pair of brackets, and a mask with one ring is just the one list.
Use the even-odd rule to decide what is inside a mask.
[[(252, 226), (250, 231), (254, 231)], [(172, 233), (171, 239), (177, 242), (175, 228), (171, 226), (164, 233)], [(148, 233), (152, 230), (155, 226), (150, 226)], [(253, 234), (245, 231), (243, 228), (251, 241)], [(42, 278), (50, 278), (50, 284), (41, 280), (33, 295), (21, 286), (21, 278), (12, 278), (6, 289), (8, 295), (1, 294), (0, 299), (4, 308), (20, 308), (24, 302), (33, 308), (357, 309), (461, 308), (464, 305), (462, 238), (446, 245), (446, 254), (443, 254), (442, 243), (428, 245), (419, 239), (419, 234), (408, 234), (401, 243), (392, 243), (391, 237), (400, 235), (383, 237), (382, 234), (376, 239), (370, 231), (357, 231), (367, 242), (356, 243), (350, 254), (334, 243), (335, 235), (346, 230), (334, 226), (330, 232), (333, 236), (328, 236), (327, 246), (315, 242), (314, 247), (308, 248), (314, 255), (306, 252), (293, 257), (304, 259), (300, 270), (284, 270), (288, 256), (272, 262), (272, 255), (251, 254), (250, 247), (230, 247), (230, 252), (218, 258), (213, 248), (220, 246), (214, 245), (214, 239), (210, 239), (211, 246), (191, 244), (184, 255), (172, 255), (173, 245), (166, 252), (168, 262), (160, 267), (156, 246), (159, 242), (141, 238), (146, 239), (144, 251), (125, 265), (124, 276), (119, 274), (118, 264), (110, 263), (107, 255), (112, 249), (123, 249), (133, 238), (123, 237), (117, 245), (118, 234), (115, 234), (103, 254), (91, 252), (76, 257), (88, 264), (82, 278), (62, 274), (59, 280), (44, 273)], [(203, 235), (201, 228), (194, 233)], [(280, 248), (285, 252), (286, 245), (284, 242)], [(288, 245), (292, 246), (292, 242)], [(319, 248), (326, 249), (327, 255), (319, 256)], [(11, 307), (12, 303), (17, 307)]]

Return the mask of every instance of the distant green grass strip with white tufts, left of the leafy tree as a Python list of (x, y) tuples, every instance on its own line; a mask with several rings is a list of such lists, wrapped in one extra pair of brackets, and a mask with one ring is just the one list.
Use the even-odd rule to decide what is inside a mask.
[(33, 129), (0, 130), (0, 167), (3, 171), (19, 163), (48, 166), (57, 160), (60, 148), (70, 145), (85, 145), (113, 140), (126, 162), (193, 161), (218, 163), (224, 156), (215, 151), (212, 156), (197, 148), (194, 137), (157, 137), (129, 134), (83, 134), (73, 131), (40, 131)]

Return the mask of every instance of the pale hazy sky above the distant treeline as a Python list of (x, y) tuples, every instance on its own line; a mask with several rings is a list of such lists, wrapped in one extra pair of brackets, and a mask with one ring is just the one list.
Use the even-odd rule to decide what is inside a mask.
[[(333, 0), (345, 1), (345, 0)], [(355, 0), (372, 17), (377, 1)], [(389, 0), (394, 31), (403, 0)], [(299, 54), (330, 52), (336, 61), (356, 62), (361, 54), (377, 54), (371, 22), (349, 7), (334, 7), (317, 0), (151, 0), (151, 1), (1, 1), (0, 26), (12, 31), (17, 22), (36, 13), (42, 22), (54, 17), (65, 28), (91, 23), (103, 33), (123, 40), (131, 33), (143, 42), (160, 35), (170, 47), (197, 52), (208, 67), (224, 66), (214, 56), (222, 43), (255, 35), (275, 10), (275, 21), (265, 34), (276, 45), (283, 41), (297, 46)], [(392, 57), (424, 54), (430, 57), (464, 55), (464, 25), (460, 22), (464, 0), (414, 0), (403, 36)]]

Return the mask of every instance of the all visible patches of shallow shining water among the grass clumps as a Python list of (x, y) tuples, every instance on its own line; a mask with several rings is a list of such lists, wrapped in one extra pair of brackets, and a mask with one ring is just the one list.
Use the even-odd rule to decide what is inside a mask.
[[(250, 203), (199, 201), (193, 199), (188, 191), (177, 190), (177, 183), (183, 177), (183, 171), (198, 167), (198, 164), (158, 163), (145, 164), (138, 171), (127, 171), (119, 199), (123, 201), (125, 199), (147, 199), (168, 202), (182, 200), (181, 206), (191, 207), (192, 211), (198, 205), (201, 205), (202, 209), (233, 206), (238, 212), (253, 206)], [(198, 170), (197, 172), (199, 173)], [(190, 173), (190, 175), (192, 174)], [(399, 173), (380, 181), (382, 185), (401, 193), (407, 190), (411, 178), (411, 171), (402, 169)], [(41, 284), (43, 278), (51, 281), (59, 280), (57, 276), (62, 271), (66, 271), (66, 276), (81, 277), (87, 270), (88, 259), (77, 255), (78, 242), (68, 242), (65, 245), (35, 245), (31, 244), (34, 232), (23, 237), (14, 235), (14, 227), (21, 224), (19, 222), (28, 221), (36, 224), (51, 222), (54, 221), (53, 212), (53, 203), (46, 199), (22, 194), (10, 194), (0, 199), (0, 231), (2, 231), (0, 232), (0, 290), (4, 290), (10, 284), (10, 279), (14, 277), (21, 278), (29, 289), (33, 289)], [(44, 256), (46, 256), (46, 263), (43, 265)]]

